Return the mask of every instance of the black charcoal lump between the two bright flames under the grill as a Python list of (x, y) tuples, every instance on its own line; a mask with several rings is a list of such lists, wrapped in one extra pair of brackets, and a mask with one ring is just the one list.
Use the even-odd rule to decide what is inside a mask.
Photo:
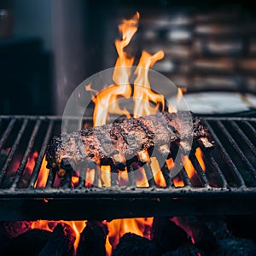
[(88, 221), (80, 236), (78, 256), (105, 256), (108, 228), (98, 221)]

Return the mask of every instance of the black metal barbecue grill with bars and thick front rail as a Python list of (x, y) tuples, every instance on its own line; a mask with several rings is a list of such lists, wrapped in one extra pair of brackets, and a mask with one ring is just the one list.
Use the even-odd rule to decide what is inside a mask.
[[(54, 188), (54, 170), (49, 170), (44, 188), (36, 188), (45, 150), (51, 137), (61, 132), (61, 117), (0, 117), (0, 219), (112, 219), (189, 214), (255, 214), (256, 206), (256, 119), (238, 117), (202, 118), (216, 147), (203, 151), (206, 172), (195, 157), (189, 160), (195, 168), (189, 178), (183, 168), (178, 174), (183, 187), (176, 187), (163, 166), (166, 187), (148, 180), (148, 188), (137, 188), (133, 172), (129, 186), (112, 180), (109, 188), (87, 188), (84, 173), (79, 185), (71, 186), (71, 175), (61, 187)], [(21, 183), (26, 166), (38, 152), (27, 183)], [(85, 172), (85, 170), (84, 170)], [(112, 172), (118, 172), (112, 170)], [(145, 167), (146, 175), (152, 172)], [(12, 176), (10, 176), (10, 173)], [(10, 178), (11, 177), (11, 178)]]

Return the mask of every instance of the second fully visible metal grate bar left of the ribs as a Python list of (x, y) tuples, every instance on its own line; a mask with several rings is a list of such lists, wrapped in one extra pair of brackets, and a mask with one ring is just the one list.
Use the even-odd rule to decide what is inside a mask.
[(15, 189), (17, 187), (17, 183), (19, 182), (20, 177), (21, 177), (22, 173), (24, 172), (29, 154), (31, 154), (31, 150), (32, 150), (32, 147), (35, 143), (35, 139), (36, 139), (36, 136), (38, 134), (38, 130), (39, 130), (40, 125), (41, 125), (41, 120), (37, 120), (36, 125), (34, 126), (34, 129), (32, 131), (32, 136), (30, 137), (29, 142), (27, 144), (26, 152), (25, 152), (25, 154), (24, 154), (24, 156), (23, 156), (23, 158), (20, 162), (20, 166), (19, 166), (19, 168), (16, 172), (15, 180), (14, 180), (12, 186), (11, 186), (12, 189)]

